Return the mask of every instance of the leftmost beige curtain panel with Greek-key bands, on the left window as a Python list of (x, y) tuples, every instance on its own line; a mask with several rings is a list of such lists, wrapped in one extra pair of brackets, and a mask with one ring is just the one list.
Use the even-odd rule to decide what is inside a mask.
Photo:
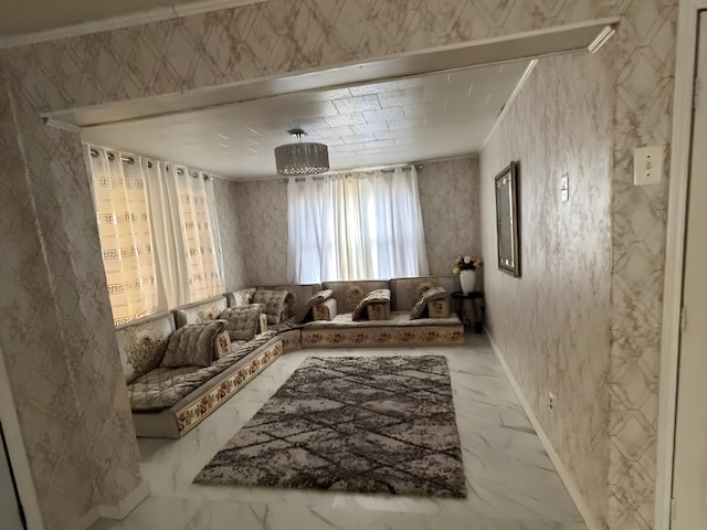
[[(87, 148), (88, 149), (88, 148)], [(108, 296), (116, 326), (158, 311), (145, 180), (138, 157), (88, 153)]]

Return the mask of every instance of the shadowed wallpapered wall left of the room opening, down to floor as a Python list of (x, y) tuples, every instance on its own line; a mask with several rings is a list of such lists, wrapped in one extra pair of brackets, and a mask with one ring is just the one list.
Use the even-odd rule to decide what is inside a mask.
[(2, 77), (0, 349), (53, 530), (116, 505), (140, 474), (80, 139), (15, 130), (33, 121), (34, 108)]

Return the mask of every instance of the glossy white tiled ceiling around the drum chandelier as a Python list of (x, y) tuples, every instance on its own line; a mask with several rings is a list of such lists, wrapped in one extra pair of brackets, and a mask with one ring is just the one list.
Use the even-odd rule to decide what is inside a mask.
[(98, 125), (84, 141), (184, 163), (233, 179), (276, 177), (273, 150), (329, 147), (333, 171), (477, 151), (530, 64), (516, 61), (345, 88), (286, 94)]

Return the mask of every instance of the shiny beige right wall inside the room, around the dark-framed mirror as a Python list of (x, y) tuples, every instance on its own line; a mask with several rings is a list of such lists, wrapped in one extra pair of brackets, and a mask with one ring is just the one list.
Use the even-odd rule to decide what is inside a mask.
[[(481, 153), (486, 256), (497, 247), (494, 178), (510, 160), (519, 167), (521, 276), (486, 261), (487, 326), (602, 527), (610, 416), (611, 81), (598, 55), (540, 60)], [(564, 203), (562, 174), (570, 179)], [(552, 411), (548, 392), (556, 395)]]

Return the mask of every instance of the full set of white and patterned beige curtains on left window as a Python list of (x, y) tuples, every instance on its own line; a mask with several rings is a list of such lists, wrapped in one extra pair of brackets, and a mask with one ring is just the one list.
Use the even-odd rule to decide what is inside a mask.
[(87, 150), (116, 325), (221, 294), (212, 179), (169, 162)]

